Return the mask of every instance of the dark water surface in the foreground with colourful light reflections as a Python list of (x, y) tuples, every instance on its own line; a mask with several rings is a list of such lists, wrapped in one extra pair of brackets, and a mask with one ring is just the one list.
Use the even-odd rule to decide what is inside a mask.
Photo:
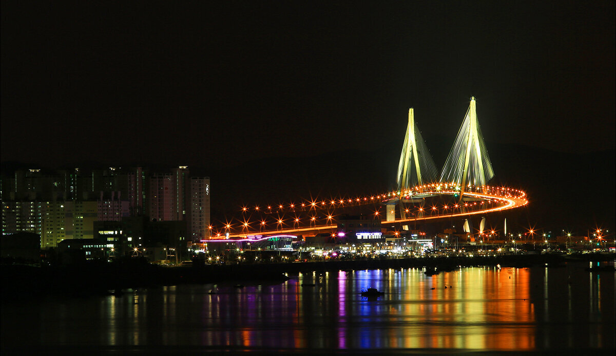
[[(3, 305), (2, 342), (245, 349), (615, 347), (614, 273), (587, 265), (301, 273), (275, 285), (182, 285)], [(315, 283), (316, 286), (301, 286)], [(362, 288), (386, 294), (362, 298)], [(216, 294), (208, 294), (214, 289)], [(9, 328), (10, 325), (10, 328)]]

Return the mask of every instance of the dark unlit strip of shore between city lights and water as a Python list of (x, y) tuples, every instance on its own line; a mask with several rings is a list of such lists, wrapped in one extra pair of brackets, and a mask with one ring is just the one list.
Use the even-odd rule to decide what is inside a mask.
[[(421, 257), (349, 261), (282, 262), (276, 264), (161, 266), (144, 260), (91, 262), (59, 267), (2, 265), (2, 301), (28, 297), (108, 295), (129, 288), (158, 288), (182, 284), (230, 281), (280, 281), (285, 273), (366, 269), (431, 269), (431, 275), (458, 267), (526, 268), (538, 264), (564, 267), (567, 262), (615, 261), (616, 254), (531, 254), (476, 257)], [(612, 272), (613, 273), (613, 272)]]

